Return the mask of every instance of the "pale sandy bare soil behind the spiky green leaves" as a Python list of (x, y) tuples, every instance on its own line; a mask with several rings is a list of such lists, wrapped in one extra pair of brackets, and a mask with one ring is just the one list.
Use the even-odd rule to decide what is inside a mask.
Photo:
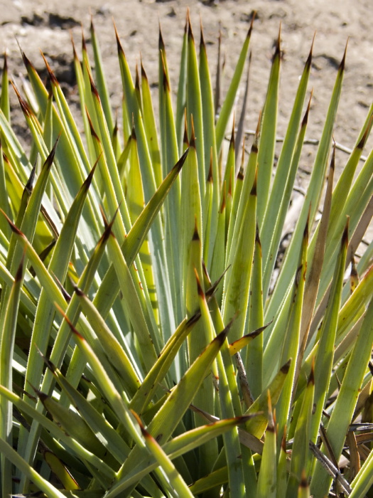
[[(286, 123), (293, 105), (298, 78), (313, 47), (313, 65), (309, 88), (313, 88), (307, 137), (320, 138), (337, 67), (348, 42), (344, 90), (335, 124), (334, 137), (345, 147), (354, 146), (367, 116), (373, 97), (373, 11), (369, 0), (0, 0), (0, 50), (6, 50), (12, 78), (21, 85), (19, 75), (25, 74), (17, 41), (28, 58), (45, 75), (40, 50), (50, 61), (63, 85), (67, 97), (77, 102), (77, 88), (72, 69), (70, 33), (80, 47), (81, 29), (90, 42), (90, 14), (102, 48), (113, 107), (120, 107), (121, 82), (117, 62), (113, 18), (130, 67), (139, 63), (140, 53), (148, 78), (156, 92), (158, 80), (158, 21), (166, 43), (171, 84), (176, 88), (178, 64), (185, 14), (190, 17), (199, 40), (200, 19), (204, 28), (207, 53), (212, 68), (216, 66), (217, 35), (222, 31), (225, 56), (225, 88), (232, 75), (239, 49), (247, 34), (252, 11), (256, 11), (250, 48), (252, 68), (249, 83), (249, 102), (246, 128), (254, 129), (264, 102), (271, 67), (274, 41), (279, 36), (283, 63), (279, 107), (279, 137), (286, 131)], [(212, 69), (212, 72), (215, 70)], [(223, 89), (224, 90), (224, 89)], [(156, 99), (155, 99), (156, 100)], [(25, 124), (12, 96), (13, 124), (25, 134)], [(26, 134), (27, 139), (27, 134)], [(367, 154), (373, 139), (367, 144)], [(303, 154), (301, 186), (312, 166), (315, 146), (308, 146)], [(347, 160), (337, 154), (340, 171)]]

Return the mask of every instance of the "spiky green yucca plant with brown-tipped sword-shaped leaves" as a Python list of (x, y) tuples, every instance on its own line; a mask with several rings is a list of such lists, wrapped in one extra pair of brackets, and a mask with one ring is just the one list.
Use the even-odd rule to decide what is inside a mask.
[(84, 41), (82, 60), (74, 48), (80, 120), (47, 60), (48, 90), (23, 53), (28, 83), (13, 88), (27, 152), (4, 57), (3, 497), (369, 492), (373, 243), (357, 263), (355, 252), (373, 213), (373, 152), (362, 157), (373, 106), (333, 190), (343, 55), (278, 269), (312, 48), (274, 168), (280, 36), (252, 143), (246, 94), (233, 118), (252, 27), (221, 105), (202, 29), (198, 54), (187, 18), (175, 102), (160, 36), (158, 116), (117, 34), (120, 132), (93, 24), (94, 63)]

